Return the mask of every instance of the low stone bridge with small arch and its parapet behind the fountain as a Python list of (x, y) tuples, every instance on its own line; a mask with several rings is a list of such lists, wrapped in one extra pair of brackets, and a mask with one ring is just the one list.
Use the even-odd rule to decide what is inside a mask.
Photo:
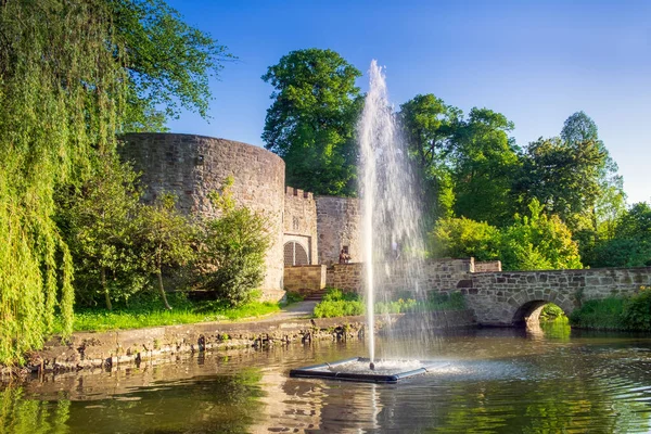
[[(327, 284), (360, 293), (363, 291), (363, 264), (334, 265), (326, 273), (320, 272), (320, 267), (324, 270), (326, 266), (308, 267), (318, 267), (319, 270), (293, 271), (301, 271), (303, 279), (307, 276), (321, 279), (312, 282), (312, 289)], [(406, 267), (397, 263), (390, 268), (379, 267), (380, 270), (387, 269), (386, 286), (396, 292), (405, 291), (406, 282), (409, 282)], [(475, 264), (473, 258), (429, 260), (423, 267), (422, 281), (418, 284), (426, 291), (461, 291), (465, 294), (468, 307), (474, 312), (477, 323), (483, 326), (518, 326), (527, 318), (537, 319), (542, 306), (548, 303), (558, 305), (570, 315), (586, 301), (633, 295), (644, 288), (651, 288), (651, 267), (484, 271), (490, 268), (496, 269), (494, 266)], [(323, 275), (327, 275), (326, 281)], [(289, 276), (285, 270), (285, 288), (291, 288), (288, 284)], [(307, 282), (301, 282), (293, 289), (302, 285), (307, 288), (306, 284)]]

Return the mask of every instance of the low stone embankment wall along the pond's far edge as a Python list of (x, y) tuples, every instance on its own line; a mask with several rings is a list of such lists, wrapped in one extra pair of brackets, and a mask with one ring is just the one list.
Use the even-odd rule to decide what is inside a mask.
[[(423, 318), (423, 315), (427, 318)], [(405, 324), (422, 326), (424, 320), (432, 330), (471, 327), (475, 323), (472, 312), (464, 310), (420, 314), (418, 318), (393, 315), (384, 321), (378, 321), (376, 328), (382, 329), (390, 321), (404, 329)], [(43, 349), (31, 355), (27, 369), (34, 372), (106, 369), (138, 366), (152, 360), (175, 360), (183, 354), (263, 348), (312, 340), (363, 339), (365, 328), (365, 317), (342, 317), (204, 322), (101, 333), (79, 332), (74, 333), (67, 342), (61, 337), (50, 340)]]

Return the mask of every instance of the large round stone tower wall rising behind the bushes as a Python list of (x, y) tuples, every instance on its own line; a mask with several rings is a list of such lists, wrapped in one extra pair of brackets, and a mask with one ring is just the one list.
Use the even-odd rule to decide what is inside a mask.
[(267, 252), (264, 289), (281, 289), (283, 272), (282, 217), (284, 162), (251, 144), (210, 137), (176, 133), (130, 133), (123, 137), (123, 157), (142, 173), (144, 200), (162, 192), (178, 196), (178, 206), (202, 217), (218, 215), (208, 193), (232, 176), (238, 205), (263, 213), (272, 242)]

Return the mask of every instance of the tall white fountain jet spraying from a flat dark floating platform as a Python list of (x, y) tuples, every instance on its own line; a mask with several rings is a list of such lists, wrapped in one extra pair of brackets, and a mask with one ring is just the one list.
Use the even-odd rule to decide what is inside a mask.
[[(333, 378), (348, 381), (395, 383), (425, 373), (441, 363), (418, 360), (426, 347), (426, 317), (419, 321), (417, 344), (407, 349), (388, 345), (378, 358), (375, 348), (375, 304), (390, 303), (396, 288), (416, 298), (422, 294), (424, 243), (414, 176), (388, 102), (386, 81), (376, 61), (369, 69), (370, 87), (357, 126), (360, 146), (360, 196), (362, 200), (363, 263), (366, 265), (368, 358), (356, 357), (290, 372), (292, 376)], [(388, 314), (386, 314), (388, 316)], [(404, 341), (405, 331), (394, 329), (387, 317), (383, 333), (387, 342)], [(397, 359), (400, 357), (401, 359)]]

